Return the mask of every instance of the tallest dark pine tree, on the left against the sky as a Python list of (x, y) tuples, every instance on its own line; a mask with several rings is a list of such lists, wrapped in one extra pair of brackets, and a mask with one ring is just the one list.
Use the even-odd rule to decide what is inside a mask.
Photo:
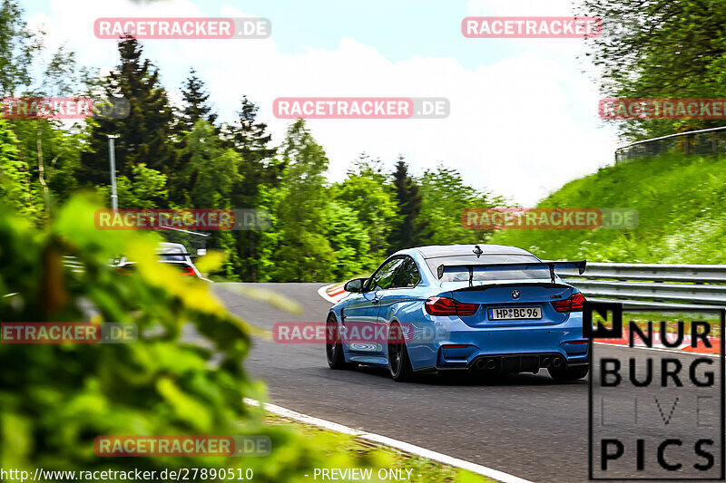
[(93, 127), (91, 150), (81, 158), (79, 180), (84, 184), (109, 182), (107, 134), (118, 135), (118, 175), (132, 178), (133, 167), (141, 163), (164, 174), (173, 171), (174, 151), (169, 142), (173, 112), (159, 71), (148, 59), (142, 60), (142, 46), (131, 36), (119, 42), (119, 53), (121, 63), (103, 80), (103, 89), (109, 98), (128, 100), (130, 112), (123, 119), (99, 119)]

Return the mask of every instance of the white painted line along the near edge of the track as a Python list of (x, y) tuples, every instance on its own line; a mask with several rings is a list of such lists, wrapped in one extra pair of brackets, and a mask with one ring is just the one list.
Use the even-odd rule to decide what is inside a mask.
[[(245, 398), (244, 402), (246, 404), (250, 404), (250, 406), (260, 407), (260, 401)], [(421, 458), (433, 459), (435, 461), (438, 461), (439, 463), (444, 463), (445, 465), (451, 467), (466, 469), (467, 471), (471, 471), (472, 473), (485, 476), (486, 478), (493, 478), (497, 481), (502, 481), (503, 483), (532, 483), (531, 481), (515, 477), (514, 475), (510, 475), (509, 473), (505, 473), (504, 471), (499, 471), (498, 469), (491, 469), (487, 468), (486, 466), (477, 465), (476, 463), (472, 463), (470, 461), (465, 461), (464, 459), (453, 458), (451, 456), (437, 453), (436, 451), (432, 451), (430, 449), (421, 448), (420, 446), (416, 446), (404, 441), (394, 440), (392, 438), (388, 438), (387, 436), (381, 436), (379, 434), (361, 430), (354, 430), (352, 428), (348, 428), (348, 426), (338, 424), (337, 422), (321, 420), (313, 416), (308, 416), (307, 414), (302, 414), (301, 412), (291, 411), (275, 404), (264, 403), (262, 406), (266, 411), (270, 411), (273, 414), (277, 414), (291, 420), (299, 420), (300, 422), (319, 426), (320, 428), (325, 428), (326, 430), (333, 430), (349, 434), (355, 436), (360, 440), (368, 440), (378, 444), (389, 446), (391, 448), (400, 449), (401, 451), (419, 456)]]

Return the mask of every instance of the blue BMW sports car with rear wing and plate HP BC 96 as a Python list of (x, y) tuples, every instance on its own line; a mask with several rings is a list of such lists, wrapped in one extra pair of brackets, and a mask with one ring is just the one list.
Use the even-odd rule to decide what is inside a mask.
[(415, 372), (539, 372), (582, 379), (589, 369), (584, 296), (556, 269), (513, 246), (421, 246), (401, 250), (350, 294), (326, 324), (332, 369), (388, 367), (396, 381)]

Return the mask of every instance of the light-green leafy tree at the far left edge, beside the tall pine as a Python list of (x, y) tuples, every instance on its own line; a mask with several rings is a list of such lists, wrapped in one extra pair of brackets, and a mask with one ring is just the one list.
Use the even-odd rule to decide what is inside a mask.
[[(43, 33), (31, 33), (22, 15), (22, 9), (12, 0), (0, 5), (3, 94), (13, 97), (77, 93), (74, 53), (62, 46), (52, 55), (44, 55)], [(45, 58), (49, 60), (45, 62)], [(34, 72), (43, 75), (35, 78)], [(12, 166), (5, 164), (5, 181), (18, 175), (20, 178), (15, 181), (23, 186), (21, 191), (7, 192), (8, 197), (20, 197), (8, 201), (16, 208), (23, 206), (24, 214), (35, 222), (47, 219), (52, 208), (52, 191), (63, 199), (75, 186), (75, 168), (83, 150), (85, 130), (48, 119), (8, 119), (5, 129), (14, 133), (13, 141), (9, 141), (6, 132), (3, 135), (3, 142), (8, 142), (4, 150), (14, 152)]]

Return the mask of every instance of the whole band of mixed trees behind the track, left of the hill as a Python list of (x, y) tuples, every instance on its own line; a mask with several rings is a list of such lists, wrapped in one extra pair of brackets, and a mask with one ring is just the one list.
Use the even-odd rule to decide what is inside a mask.
[[(35, 59), (21, 51), (36, 39), (25, 35), (20, 8), (9, 0), (3, 5), (0, 22), (13, 37), (6, 43), (15, 45), (5, 59), (16, 68), (0, 77), (37, 72), (38, 95), (102, 92), (131, 103), (123, 119), (88, 119), (70, 127), (38, 119), (0, 124), (0, 193), (35, 225), (48, 223), (56, 205), (79, 189), (94, 188), (110, 198), (108, 135), (115, 134), (120, 208), (270, 213), (269, 230), (212, 231), (204, 239), (207, 248), (226, 254), (211, 274), (218, 279), (339, 280), (372, 271), (400, 248), (480, 242), (487, 236), (460, 225), (463, 208), (488, 206), (489, 200), (466, 186), (456, 170), (440, 168), (417, 179), (403, 159), (391, 174), (382, 161), (363, 154), (346, 179), (331, 186), (328, 158), (304, 121), (291, 123), (276, 147), (258, 119), (258, 106), (242, 95), (237, 119), (217, 124), (208, 90), (193, 68), (181, 105), (173, 106), (161, 73), (133, 38), (118, 43), (119, 62), (108, 74), (85, 74), (64, 48), (38, 51), (44, 53), (36, 56), (41, 64), (27, 68)], [(20, 85), (18, 79), (4, 82)], [(163, 235), (190, 245), (177, 232)]]

